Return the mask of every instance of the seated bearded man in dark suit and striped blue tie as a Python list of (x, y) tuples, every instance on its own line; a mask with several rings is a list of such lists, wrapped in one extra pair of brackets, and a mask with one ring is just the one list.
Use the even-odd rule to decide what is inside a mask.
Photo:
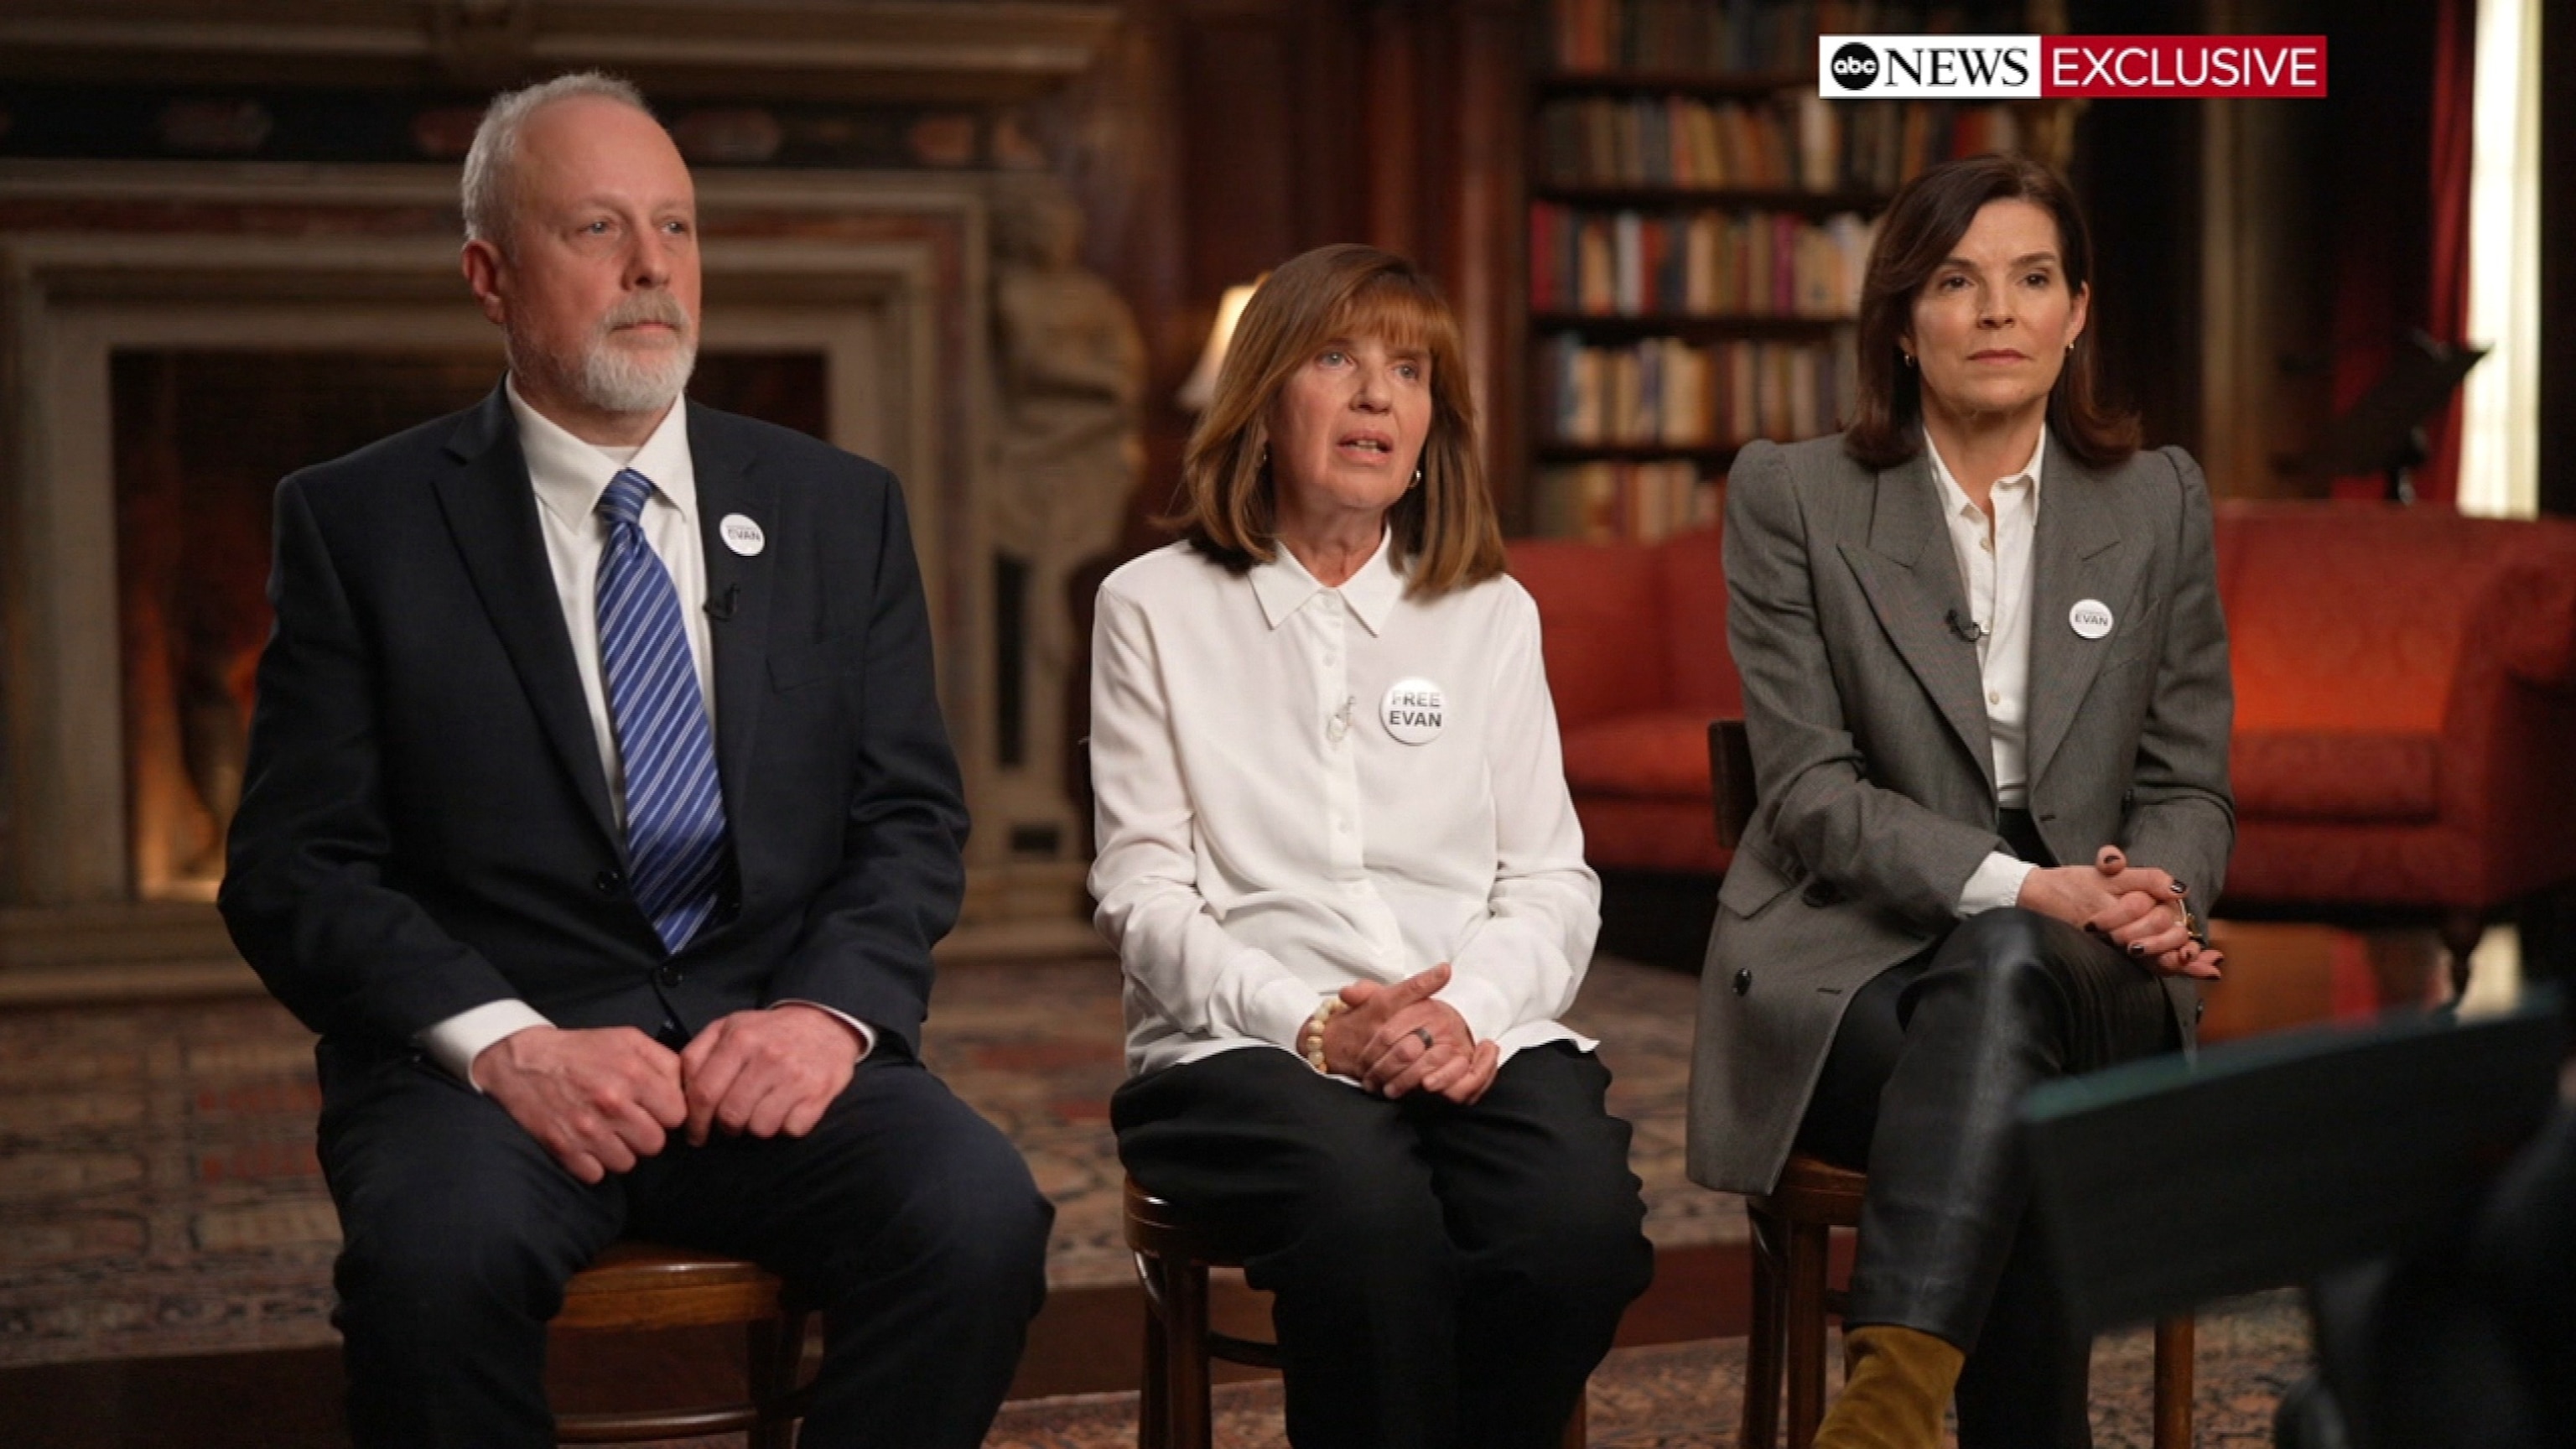
[(747, 1253), (806, 1446), (971, 1446), (1051, 1209), (920, 1065), (966, 812), (886, 469), (680, 402), (696, 193), (623, 83), (502, 95), (482, 405), (278, 487), (224, 920), (322, 1034), (361, 1444), (551, 1444), (564, 1281)]

